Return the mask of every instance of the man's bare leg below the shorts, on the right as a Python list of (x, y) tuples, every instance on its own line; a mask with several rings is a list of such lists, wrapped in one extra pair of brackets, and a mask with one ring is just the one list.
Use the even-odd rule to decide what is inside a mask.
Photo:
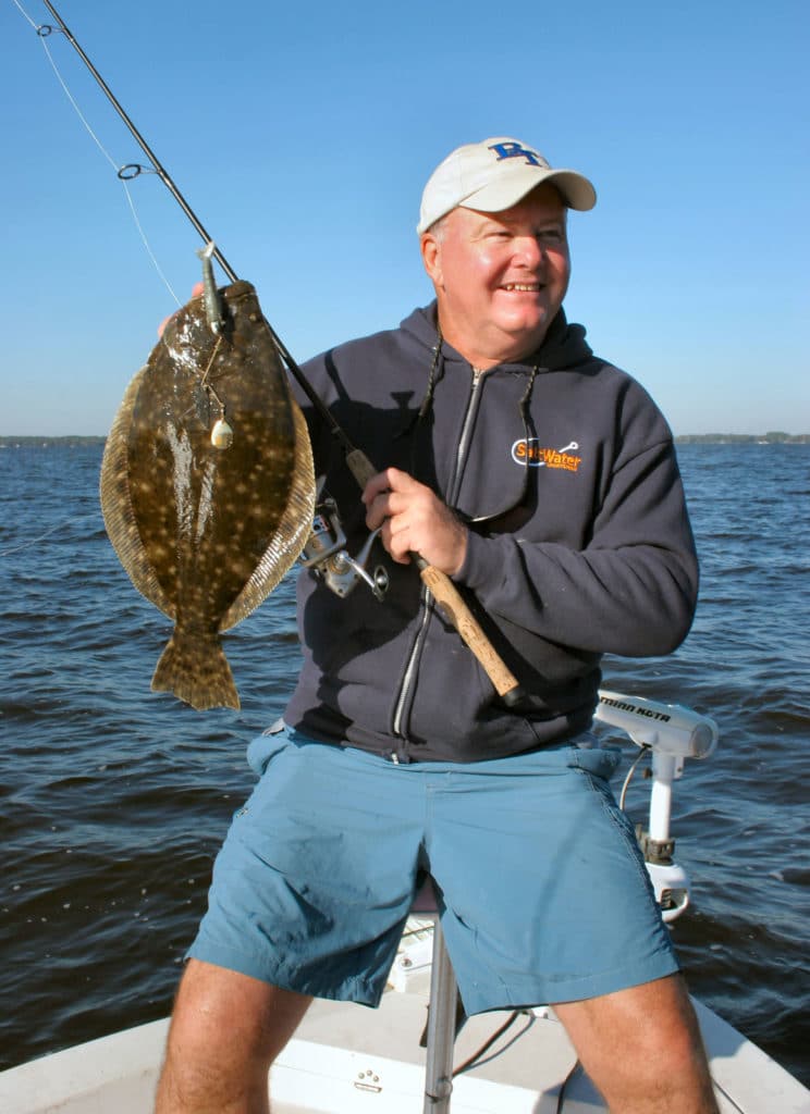
[(718, 1114), (680, 975), (554, 1009), (611, 1114)]

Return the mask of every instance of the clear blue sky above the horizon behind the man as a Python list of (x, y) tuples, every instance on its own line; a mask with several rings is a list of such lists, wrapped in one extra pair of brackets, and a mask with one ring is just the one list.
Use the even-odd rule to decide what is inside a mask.
[[(806, 0), (56, 7), (296, 360), (429, 301), (424, 180), (506, 134), (594, 180), (568, 316), (676, 433), (810, 432)], [(47, 42), (115, 165), (144, 163)], [(0, 43), (0, 434), (106, 433), (174, 302), (12, 0)], [(155, 175), (129, 192), (185, 300), (197, 234)]]

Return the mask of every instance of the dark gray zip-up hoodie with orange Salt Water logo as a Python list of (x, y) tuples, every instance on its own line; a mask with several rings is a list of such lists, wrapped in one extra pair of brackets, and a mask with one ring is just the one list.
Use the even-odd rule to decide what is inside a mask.
[[(410, 472), (469, 524), (455, 580), (526, 697), (502, 703), (416, 567), (378, 541), (382, 603), (301, 574), (304, 664), (284, 719), (399, 761), (475, 762), (586, 729), (602, 654), (665, 654), (686, 636), (697, 563), (669, 427), (580, 325), (560, 312), (534, 356), (478, 375), (445, 343), (429, 387), (435, 322), (435, 305), (417, 310), (303, 371), (375, 466)], [(359, 489), (301, 401), (354, 554), (368, 536)]]

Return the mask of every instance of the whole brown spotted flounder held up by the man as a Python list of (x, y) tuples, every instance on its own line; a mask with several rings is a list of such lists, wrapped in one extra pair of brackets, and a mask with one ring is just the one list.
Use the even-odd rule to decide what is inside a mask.
[(312, 529), (306, 423), (254, 287), (170, 320), (116, 414), (101, 463), (107, 534), (135, 587), (174, 620), (152, 687), (238, 707), (219, 635), (279, 584)]

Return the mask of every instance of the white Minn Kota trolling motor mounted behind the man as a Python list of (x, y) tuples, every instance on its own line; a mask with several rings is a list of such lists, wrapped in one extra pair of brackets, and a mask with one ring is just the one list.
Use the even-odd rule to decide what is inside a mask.
[[(718, 725), (707, 715), (700, 715), (682, 704), (664, 704), (604, 688), (599, 690), (595, 717), (626, 732), (643, 753), (652, 751), (648, 827), (636, 824), (636, 839), (661, 915), (667, 922), (675, 920), (689, 906), (690, 883), (686, 871), (673, 859), (675, 840), (670, 834), (672, 783), (682, 776), (685, 759), (707, 759), (714, 753), (720, 737)], [(638, 759), (625, 780), (619, 802), (622, 807)]]

